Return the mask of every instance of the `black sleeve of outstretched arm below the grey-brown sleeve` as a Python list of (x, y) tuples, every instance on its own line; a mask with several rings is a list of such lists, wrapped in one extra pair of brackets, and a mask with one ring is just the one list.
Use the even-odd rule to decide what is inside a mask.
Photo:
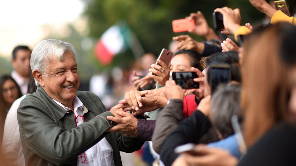
[(165, 140), (160, 151), (160, 159), (164, 165), (172, 165), (178, 157), (178, 154), (174, 152), (175, 147), (189, 142), (196, 143), (209, 129), (210, 125), (210, 121), (199, 110), (180, 122), (176, 130)]

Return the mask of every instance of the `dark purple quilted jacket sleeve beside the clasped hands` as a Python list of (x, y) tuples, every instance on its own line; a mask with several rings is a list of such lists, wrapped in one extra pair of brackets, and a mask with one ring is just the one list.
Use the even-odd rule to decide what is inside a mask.
[(155, 128), (155, 121), (138, 119), (137, 137), (143, 141), (151, 141)]

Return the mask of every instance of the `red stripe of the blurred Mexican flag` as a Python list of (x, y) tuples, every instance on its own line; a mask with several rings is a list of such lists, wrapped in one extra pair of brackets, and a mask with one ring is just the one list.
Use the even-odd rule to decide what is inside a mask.
[(94, 46), (94, 54), (98, 61), (103, 65), (108, 65), (112, 62), (114, 56), (107, 50), (106, 46), (99, 40)]

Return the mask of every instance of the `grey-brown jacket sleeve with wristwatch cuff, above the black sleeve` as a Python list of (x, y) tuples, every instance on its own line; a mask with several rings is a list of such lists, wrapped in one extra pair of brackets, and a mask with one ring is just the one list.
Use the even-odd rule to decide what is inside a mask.
[(152, 135), (152, 147), (159, 153), (165, 139), (175, 130), (178, 123), (182, 121), (182, 100), (172, 100), (159, 113), (155, 122), (155, 129)]

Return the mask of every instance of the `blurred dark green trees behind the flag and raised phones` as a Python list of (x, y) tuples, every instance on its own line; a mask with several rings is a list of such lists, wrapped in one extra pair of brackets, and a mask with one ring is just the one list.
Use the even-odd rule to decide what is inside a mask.
[[(85, 15), (89, 17), (91, 38), (98, 40), (102, 33), (118, 20), (126, 20), (144, 50), (158, 53), (162, 48), (168, 48), (173, 36), (189, 34), (174, 33), (172, 30), (174, 19), (185, 18), (192, 12), (201, 11), (210, 27), (213, 27), (213, 10), (223, 6), (239, 8), (242, 13), (242, 24), (246, 22), (252, 24), (264, 18), (264, 14), (247, 0), (92, 0), (88, 1)], [(205, 40), (193, 34), (189, 35), (199, 41)], [(131, 51), (127, 51), (115, 56), (110, 66), (121, 66), (132, 59)]]

